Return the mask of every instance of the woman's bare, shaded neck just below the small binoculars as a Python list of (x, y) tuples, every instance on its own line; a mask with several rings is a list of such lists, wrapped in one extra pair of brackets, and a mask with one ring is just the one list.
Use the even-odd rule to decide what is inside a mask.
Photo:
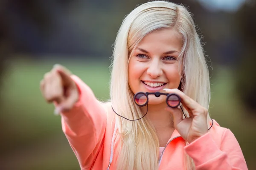
[[(152, 123), (155, 129), (174, 128), (172, 114), (166, 111), (166, 104), (148, 105), (148, 113), (146, 118)], [(146, 107), (143, 107), (143, 112), (146, 112)]]

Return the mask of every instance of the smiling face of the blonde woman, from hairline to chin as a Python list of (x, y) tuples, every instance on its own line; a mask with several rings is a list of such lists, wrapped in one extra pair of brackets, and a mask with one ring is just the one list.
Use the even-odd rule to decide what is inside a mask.
[[(128, 64), (128, 83), (137, 92), (162, 92), (178, 88), (180, 74), (177, 59), (182, 48), (180, 35), (171, 28), (146, 35), (135, 47)], [(148, 105), (166, 102), (166, 96), (148, 96)]]

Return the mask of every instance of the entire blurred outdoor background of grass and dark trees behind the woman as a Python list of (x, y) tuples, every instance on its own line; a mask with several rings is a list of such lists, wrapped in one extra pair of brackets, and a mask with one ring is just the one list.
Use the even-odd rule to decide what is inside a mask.
[[(39, 82), (59, 63), (84, 80), (99, 99), (109, 99), (116, 33), (124, 16), (145, 2), (0, 1), (0, 170), (79, 170), (61, 118), (41, 97)], [(249, 170), (254, 170), (256, 3), (174, 2), (193, 13), (211, 59), (211, 117), (235, 134)]]

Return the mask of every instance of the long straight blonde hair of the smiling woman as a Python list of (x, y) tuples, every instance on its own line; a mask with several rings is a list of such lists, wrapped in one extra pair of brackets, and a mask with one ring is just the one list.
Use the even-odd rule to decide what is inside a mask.
[[(210, 85), (207, 63), (200, 38), (189, 11), (175, 3), (151, 1), (128, 14), (119, 28), (114, 44), (111, 71), (111, 101), (115, 111), (128, 119), (143, 113), (133, 102), (128, 85), (128, 62), (131, 51), (152, 31), (173, 28), (183, 37), (179, 66), (182, 67), (182, 91), (203, 107), (209, 107)], [(185, 113), (189, 117), (188, 113)], [(116, 116), (120, 137), (118, 170), (157, 170), (159, 141), (147, 119), (127, 121)], [(187, 170), (195, 169), (193, 160), (185, 156)]]

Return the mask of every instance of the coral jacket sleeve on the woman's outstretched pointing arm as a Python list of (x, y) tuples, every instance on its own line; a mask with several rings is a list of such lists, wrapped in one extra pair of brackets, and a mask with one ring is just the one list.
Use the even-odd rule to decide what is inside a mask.
[(70, 143), (81, 169), (89, 169), (96, 159), (105, 136), (107, 114), (91, 89), (72, 76), (79, 89), (79, 101), (61, 113), (62, 130)]

